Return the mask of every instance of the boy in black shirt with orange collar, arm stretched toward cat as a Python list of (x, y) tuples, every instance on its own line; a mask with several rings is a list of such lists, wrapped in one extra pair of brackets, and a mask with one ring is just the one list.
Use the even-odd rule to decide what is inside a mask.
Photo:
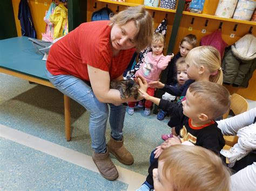
[(150, 96), (143, 90), (139, 91), (146, 100), (159, 105), (160, 109), (173, 112), (179, 122), (172, 128), (173, 137), (151, 153), (149, 175), (143, 188), (147, 187), (149, 190), (153, 187), (152, 170), (158, 166), (158, 157), (167, 147), (188, 142), (220, 154), (225, 140), (214, 119), (225, 114), (230, 107), (230, 93), (224, 86), (207, 81), (194, 82), (188, 88), (182, 105)]

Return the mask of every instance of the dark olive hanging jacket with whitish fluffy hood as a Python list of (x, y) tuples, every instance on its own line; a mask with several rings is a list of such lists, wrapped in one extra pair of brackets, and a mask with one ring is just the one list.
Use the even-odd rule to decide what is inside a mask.
[(231, 46), (221, 64), (223, 82), (247, 87), (256, 67), (256, 38), (246, 34)]

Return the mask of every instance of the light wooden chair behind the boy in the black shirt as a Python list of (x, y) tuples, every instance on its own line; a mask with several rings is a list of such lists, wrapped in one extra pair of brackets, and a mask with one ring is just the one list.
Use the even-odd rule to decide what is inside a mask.
[[(230, 110), (233, 111), (234, 115), (239, 115), (242, 112), (248, 111), (249, 105), (248, 102), (245, 100), (244, 97), (238, 95), (238, 94), (232, 94), (231, 95), (231, 104), (230, 109), (226, 112), (226, 114), (223, 115), (223, 118), (227, 118), (228, 114), (230, 113)], [(229, 150), (231, 146), (233, 146), (235, 143), (238, 142), (237, 136), (224, 136), (226, 145), (223, 149)]]

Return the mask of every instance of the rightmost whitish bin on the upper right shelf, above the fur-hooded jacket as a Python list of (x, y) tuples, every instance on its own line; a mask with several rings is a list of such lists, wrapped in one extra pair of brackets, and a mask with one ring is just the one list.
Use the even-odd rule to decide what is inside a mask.
[(239, 0), (235, 8), (233, 18), (239, 20), (251, 20), (256, 2)]

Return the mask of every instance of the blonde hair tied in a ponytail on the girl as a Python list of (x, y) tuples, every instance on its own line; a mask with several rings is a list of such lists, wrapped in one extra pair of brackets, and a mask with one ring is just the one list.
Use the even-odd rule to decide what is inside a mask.
[(221, 57), (219, 51), (213, 46), (198, 46), (191, 49), (186, 56), (188, 65), (206, 67), (211, 73), (210, 82), (223, 83), (223, 71), (221, 69)]

